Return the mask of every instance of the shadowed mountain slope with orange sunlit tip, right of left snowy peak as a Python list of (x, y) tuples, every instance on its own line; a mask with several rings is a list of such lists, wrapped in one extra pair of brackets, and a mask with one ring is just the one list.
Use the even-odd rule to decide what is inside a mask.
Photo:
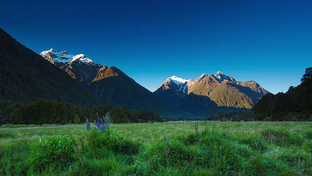
[(114, 66), (107, 68), (95, 78), (89, 89), (129, 109), (154, 110), (168, 116), (191, 115), (154, 95)]

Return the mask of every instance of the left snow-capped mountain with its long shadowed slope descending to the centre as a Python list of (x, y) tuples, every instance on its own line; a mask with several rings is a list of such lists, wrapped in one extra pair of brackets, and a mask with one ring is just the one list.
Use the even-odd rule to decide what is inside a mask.
[(133, 110), (154, 110), (162, 116), (192, 116), (140, 86), (115, 66), (100, 65), (83, 54), (58, 53), (53, 48), (40, 55), (94, 94), (117, 105)]

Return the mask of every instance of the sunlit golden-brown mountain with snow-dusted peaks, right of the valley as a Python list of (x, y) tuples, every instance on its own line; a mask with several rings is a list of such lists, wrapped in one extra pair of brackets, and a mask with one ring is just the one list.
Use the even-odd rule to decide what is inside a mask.
[(267, 91), (254, 81), (236, 81), (218, 71), (185, 80), (172, 76), (154, 94), (195, 115), (209, 115), (215, 111), (250, 110)]

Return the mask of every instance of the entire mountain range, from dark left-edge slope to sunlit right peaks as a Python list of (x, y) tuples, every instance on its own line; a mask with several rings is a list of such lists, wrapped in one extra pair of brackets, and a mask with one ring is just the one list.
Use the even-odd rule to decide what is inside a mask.
[(0, 100), (46, 98), (193, 118), (250, 110), (267, 93), (254, 81), (236, 81), (222, 72), (190, 80), (173, 76), (152, 93), (117, 67), (101, 65), (83, 54), (71, 55), (52, 48), (40, 55), (0, 29)]

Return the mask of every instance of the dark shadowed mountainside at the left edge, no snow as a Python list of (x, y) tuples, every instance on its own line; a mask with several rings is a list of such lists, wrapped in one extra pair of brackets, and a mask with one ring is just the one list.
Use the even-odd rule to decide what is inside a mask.
[(112, 105), (75, 82), (68, 74), (23, 46), (0, 28), (0, 99), (46, 98), (87, 106)]

